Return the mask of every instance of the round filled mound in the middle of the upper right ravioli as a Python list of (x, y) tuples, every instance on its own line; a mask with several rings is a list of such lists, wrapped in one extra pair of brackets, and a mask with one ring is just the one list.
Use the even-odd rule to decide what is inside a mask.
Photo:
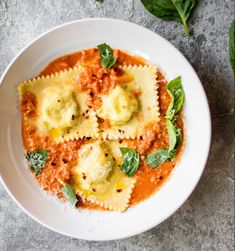
[(122, 125), (131, 119), (138, 111), (138, 100), (132, 93), (117, 85), (102, 99), (102, 106), (97, 114), (102, 119), (108, 119), (111, 125)]

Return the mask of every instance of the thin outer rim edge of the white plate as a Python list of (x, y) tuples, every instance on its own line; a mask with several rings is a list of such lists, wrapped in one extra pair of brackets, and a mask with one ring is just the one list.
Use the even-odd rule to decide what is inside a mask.
[[(179, 53), (179, 56), (181, 56), (181, 58), (188, 64), (188, 66), (191, 68), (191, 70), (194, 72), (195, 74), (195, 77), (197, 78), (198, 82), (200, 83), (199, 87), (202, 91), (202, 94), (203, 94), (203, 98), (206, 102), (206, 107), (205, 107), (205, 110), (208, 114), (208, 145), (207, 145), (207, 149), (206, 149), (206, 154), (205, 154), (205, 157), (204, 157), (204, 161), (203, 161), (203, 167), (201, 168), (200, 170), (200, 174), (198, 176), (198, 179), (194, 181), (194, 184), (192, 184), (191, 186), (191, 189), (188, 189), (188, 192), (187, 192), (187, 196), (185, 196), (185, 199), (183, 201), (181, 201), (179, 204), (177, 204), (175, 207), (174, 207), (174, 210), (172, 210), (171, 213), (169, 213), (168, 215), (166, 215), (165, 217), (162, 218), (161, 221), (159, 221), (158, 223), (154, 222), (151, 224), (151, 226), (145, 226), (145, 227), (142, 227), (141, 230), (137, 230), (137, 231), (132, 231), (130, 232), (129, 234), (124, 234), (124, 235), (119, 235), (119, 237), (115, 237), (115, 238), (103, 238), (103, 239), (95, 239), (95, 238), (87, 238), (87, 239), (81, 239), (75, 235), (71, 235), (71, 234), (68, 234), (66, 232), (63, 232), (62, 230), (58, 230), (56, 228), (53, 228), (52, 226), (46, 224), (45, 222), (37, 219), (36, 216), (32, 215), (20, 202), (17, 201), (17, 199), (14, 197), (14, 195), (10, 192), (10, 190), (8, 189), (7, 185), (5, 184), (4, 180), (2, 179), (1, 177), (1, 174), (0, 174), (0, 181), (1, 183), (3, 184), (3, 187), (5, 188), (5, 190), (7, 191), (7, 193), (10, 195), (10, 197), (13, 199), (13, 201), (21, 208), (21, 210), (23, 212), (25, 212), (28, 216), (30, 216), (32, 219), (34, 219), (36, 222), (40, 223), (41, 225), (43, 225), (44, 227), (56, 232), (56, 233), (60, 233), (62, 235), (65, 235), (65, 236), (68, 236), (68, 237), (72, 237), (72, 238), (76, 238), (76, 239), (81, 239), (81, 240), (88, 240), (88, 241), (109, 241), (109, 240), (118, 240), (118, 239), (125, 239), (125, 238), (128, 238), (128, 237), (131, 237), (131, 236), (134, 236), (134, 235), (138, 235), (138, 234), (141, 234), (141, 233), (144, 233), (156, 226), (158, 226), (159, 224), (161, 224), (163, 221), (165, 221), (166, 219), (168, 219), (171, 215), (173, 215), (174, 213), (176, 213), (176, 211), (188, 200), (189, 196), (192, 194), (192, 192), (195, 190), (198, 182), (200, 181), (201, 179), (201, 176), (202, 176), (202, 173), (203, 171), (205, 170), (205, 167), (206, 167), (206, 164), (207, 164), (207, 160), (208, 160), (208, 157), (209, 157), (209, 153), (210, 153), (210, 147), (211, 147), (211, 135), (212, 135), (212, 122), (211, 122), (211, 112), (210, 112), (210, 106), (209, 106), (209, 103), (208, 103), (208, 99), (207, 99), (207, 96), (206, 96), (206, 93), (205, 93), (205, 90), (204, 90), (204, 87), (196, 73), (196, 71), (194, 70), (194, 68), (192, 67), (191, 63), (187, 60), (187, 58), (173, 45), (171, 44), (166, 38), (162, 37), (161, 35), (159, 35), (158, 33), (156, 32), (153, 32), (152, 30), (146, 28), (146, 27), (143, 27), (139, 24), (136, 24), (136, 23), (133, 23), (133, 22), (130, 22), (130, 21), (126, 21), (126, 20), (121, 20), (121, 19), (115, 19), (115, 18), (83, 18), (83, 19), (77, 19), (77, 20), (73, 20), (73, 21), (69, 21), (69, 22), (66, 22), (66, 23), (63, 23), (63, 24), (60, 24), (58, 26), (55, 26), (45, 32), (43, 32), (41, 35), (37, 36), (36, 38), (30, 40), (29, 43), (27, 43), (17, 54), (16, 56), (10, 61), (10, 63), (8, 64), (8, 66), (6, 67), (6, 69), (3, 71), (2, 73), (2, 76), (0, 78), (0, 87), (2, 85), (2, 82), (6, 76), (6, 74), (8, 73), (9, 69), (12, 67), (12, 65), (14, 64), (14, 62), (17, 60), (17, 58), (19, 58), (21, 56), (21, 54), (24, 53), (24, 51), (30, 47), (31, 45), (33, 45), (37, 40), (43, 38), (44, 36), (47, 36), (49, 33), (55, 31), (55, 30), (58, 30), (58, 29), (61, 29), (63, 27), (66, 27), (66, 26), (69, 26), (69, 25), (72, 25), (72, 24), (76, 24), (76, 23), (83, 23), (83, 22), (94, 22), (94, 21), (107, 21), (107, 22), (116, 22), (116, 23), (124, 23), (124, 24), (127, 24), (127, 25), (132, 25), (133, 27), (135, 26), (136, 28), (138, 29), (141, 29), (143, 31), (148, 31), (148, 32), (151, 32), (153, 35), (155, 36), (158, 36), (159, 38), (161, 38), (168, 46), (172, 47), (174, 50), (176, 50), (178, 53)], [(187, 130), (187, 128), (186, 128)]]

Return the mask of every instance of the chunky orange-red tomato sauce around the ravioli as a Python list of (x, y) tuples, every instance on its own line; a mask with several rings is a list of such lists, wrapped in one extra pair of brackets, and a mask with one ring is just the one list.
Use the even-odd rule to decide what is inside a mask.
[[(118, 83), (128, 82), (126, 76), (118, 66), (126, 65), (144, 65), (147, 64), (144, 59), (127, 54), (121, 50), (114, 50), (114, 56), (117, 58), (115, 67), (104, 69), (100, 63), (99, 52), (96, 48), (78, 51), (72, 54), (64, 55), (50, 62), (39, 74), (39, 76), (51, 75), (59, 71), (67, 70), (75, 67), (77, 64), (86, 66), (84, 72), (77, 81), (77, 88), (81, 91), (88, 90), (90, 95), (87, 100), (88, 105), (97, 109), (101, 101), (97, 98), (99, 93), (108, 93)], [(171, 98), (166, 91), (167, 81), (164, 76), (158, 72), (156, 75), (158, 80), (158, 95), (160, 106), (160, 122), (149, 125), (144, 135), (136, 140), (121, 140), (127, 142), (129, 147), (136, 147), (140, 154), (141, 163), (135, 177), (137, 182), (133, 189), (129, 205), (134, 205), (156, 192), (157, 189), (167, 180), (176, 162), (179, 159), (181, 149), (177, 151), (176, 158), (173, 162), (165, 162), (158, 168), (152, 169), (145, 162), (145, 156), (162, 147), (168, 146), (168, 132), (165, 123), (165, 113), (170, 104)], [(70, 179), (70, 169), (77, 162), (78, 149), (89, 139), (81, 139), (56, 144), (49, 137), (39, 137), (35, 128), (25, 126), (25, 120), (28, 117), (36, 116), (37, 102), (32, 93), (26, 93), (21, 102), (22, 118), (22, 135), (23, 143), (26, 151), (36, 149), (47, 149), (49, 152), (48, 161), (41, 173), (36, 176), (36, 180), (40, 186), (62, 198), (60, 192), (63, 182)], [(101, 128), (109, 126), (107, 121), (101, 122)], [(103, 123), (103, 124), (102, 124)], [(178, 126), (184, 132), (184, 124), (182, 114), (177, 120)], [(180, 147), (182, 148), (182, 146)], [(90, 202), (79, 200), (78, 206), (89, 209), (102, 209)]]

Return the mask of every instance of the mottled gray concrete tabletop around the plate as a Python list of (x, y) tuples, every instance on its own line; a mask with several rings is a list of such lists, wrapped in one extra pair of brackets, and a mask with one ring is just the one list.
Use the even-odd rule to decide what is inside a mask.
[[(0, 74), (30, 40), (56, 25), (113, 17), (145, 26), (173, 43), (191, 62), (206, 90), (213, 124), (209, 160), (184, 205), (154, 229), (125, 240), (86, 242), (33, 221), (0, 185), (0, 250), (233, 250), (234, 78), (228, 59), (233, 0), (201, 0), (190, 19), (192, 36), (175, 22), (147, 13), (139, 0), (0, 0)], [(1, 154), (1, 153), (0, 153)]]

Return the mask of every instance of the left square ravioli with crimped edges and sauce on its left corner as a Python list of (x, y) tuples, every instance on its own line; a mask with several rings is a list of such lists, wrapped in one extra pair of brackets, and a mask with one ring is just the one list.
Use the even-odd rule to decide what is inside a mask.
[(21, 102), (34, 106), (34, 116), (23, 112), (26, 128), (35, 128), (39, 135), (48, 135), (56, 142), (99, 136), (96, 115), (86, 105), (87, 94), (74, 84), (81, 70), (78, 66), (19, 85)]

